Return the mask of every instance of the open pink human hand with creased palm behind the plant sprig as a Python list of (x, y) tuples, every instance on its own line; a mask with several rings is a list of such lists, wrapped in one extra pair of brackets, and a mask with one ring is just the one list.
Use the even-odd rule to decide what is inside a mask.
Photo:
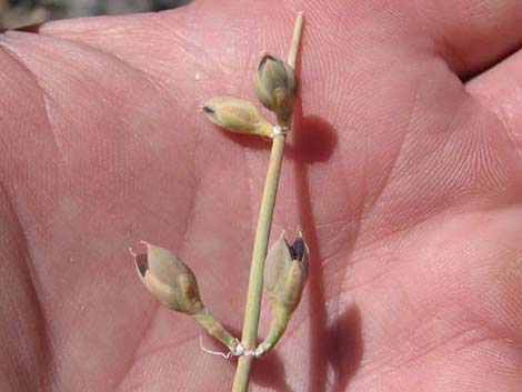
[(253, 100), (259, 52), (285, 53), (297, 10), (272, 238), (299, 224), (311, 269), (251, 391), (520, 391), (520, 1), (321, 3), (0, 34), (1, 391), (230, 390), (234, 361), (200, 350), (127, 249), (172, 249), (239, 335), (269, 142), (198, 105)]

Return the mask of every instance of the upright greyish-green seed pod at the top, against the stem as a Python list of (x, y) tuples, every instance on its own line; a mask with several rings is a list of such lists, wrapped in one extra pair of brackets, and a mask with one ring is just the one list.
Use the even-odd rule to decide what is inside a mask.
[(259, 101), (288, 125), (298, 98), (295, 70), (280, 58), (262, 53), (255, 70), (253, 90)]

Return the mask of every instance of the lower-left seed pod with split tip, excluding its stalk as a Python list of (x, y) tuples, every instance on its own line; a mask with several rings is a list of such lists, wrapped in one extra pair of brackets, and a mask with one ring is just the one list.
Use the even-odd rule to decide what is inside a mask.
[(147, 254), (135, 257), (135, 267), (151, 294), (178, 312), (191, 315), (201, 312), (204, 306), (190, 268), (171, 251), (144, 243)]

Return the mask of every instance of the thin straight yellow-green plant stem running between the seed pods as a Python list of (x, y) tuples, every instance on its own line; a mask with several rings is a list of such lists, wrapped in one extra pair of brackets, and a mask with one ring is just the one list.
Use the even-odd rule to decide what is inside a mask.
[[(302, 12), (295, 19), (292, 42), (288, 54), (288, 63), (295, 68), (299, 40), (301, 37)], [(284, 124), (287, 125), (287, 124)], [(261, 296), (263, 291), (264, 259), (267, 257), (270, 229), (272, 227), (273, 208), (278, 193), (281, 163), (283, 161), (285, 135), (278, 134), (273, 138), (270, 152), (270, 162), (264, 182), (261, 209), (259, 212), (258, 228), (250, 267), (249, 289), (247, 293), (247, 308), (244, 310), (242, 343), (245, 350), (254, 350), (258, 339), (259, 315), (261, 311)], [(249, 389), (250, 370), (253, 356), (243, 355), (238, 360), (232, 392), (247, 392)]]

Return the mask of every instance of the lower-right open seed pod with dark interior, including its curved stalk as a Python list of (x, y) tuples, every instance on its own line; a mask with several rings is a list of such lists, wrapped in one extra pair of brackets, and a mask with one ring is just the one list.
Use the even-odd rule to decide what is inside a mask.
[(307, 283), (309, 259), (309, 249), (301, 237), (290, 247), (281, 235), (269, 250), (264, 288), (272, 304), (272, 321), (267, 338), (257, 349), (258, 355), (273, 348), (287, 330)]

